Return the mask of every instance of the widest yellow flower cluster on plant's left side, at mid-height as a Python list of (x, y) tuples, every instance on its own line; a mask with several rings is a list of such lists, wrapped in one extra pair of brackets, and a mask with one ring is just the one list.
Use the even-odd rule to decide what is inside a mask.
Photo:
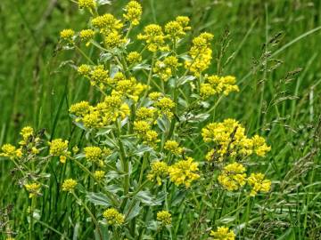
[(70, 113), (77, 116), (76, 121), (81, 121), (86, 128), (96, 128), (109, 125), (118, 117), (124, 119), (130, 114), (130, 110), (119, 94), (114, 93), (96, 106), (90, 106), (84, 101), (73, 104)]

